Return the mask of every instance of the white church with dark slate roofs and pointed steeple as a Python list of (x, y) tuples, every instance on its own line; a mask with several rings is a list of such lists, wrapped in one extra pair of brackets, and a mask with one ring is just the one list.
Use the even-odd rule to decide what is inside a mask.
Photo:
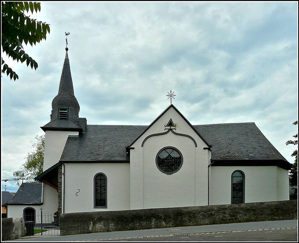
[(171, 103), (149, 125), (88, 125), (67, 52), (41, 127), (42, 201), (30, 207), (63, 214), (289, 200), (292, 164), (254, 122), (194, 125)]

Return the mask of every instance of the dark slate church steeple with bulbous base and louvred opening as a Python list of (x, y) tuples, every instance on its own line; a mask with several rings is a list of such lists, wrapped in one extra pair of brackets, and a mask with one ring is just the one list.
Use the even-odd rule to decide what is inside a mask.
[(81, 130), (78, 124), (80, 106), (74, 95), (70, 62), (66, 55), (60, 77), (58, 94), (52, 101), (51, 121), (42, 127), (45, 130)]

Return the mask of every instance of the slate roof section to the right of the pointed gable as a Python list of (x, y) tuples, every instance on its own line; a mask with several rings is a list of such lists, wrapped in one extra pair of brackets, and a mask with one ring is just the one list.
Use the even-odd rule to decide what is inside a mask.
[(211, 160), (286, 160), (254, 122), (195, 125), (194, 127), (212, 145)]

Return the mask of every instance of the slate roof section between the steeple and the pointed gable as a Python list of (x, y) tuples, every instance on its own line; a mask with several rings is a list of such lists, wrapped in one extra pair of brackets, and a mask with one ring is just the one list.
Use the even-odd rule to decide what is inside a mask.
[(69, 136), (60, 160), (129, 162), (126, 146), (147, 126), (87, 125), (85, 133)]

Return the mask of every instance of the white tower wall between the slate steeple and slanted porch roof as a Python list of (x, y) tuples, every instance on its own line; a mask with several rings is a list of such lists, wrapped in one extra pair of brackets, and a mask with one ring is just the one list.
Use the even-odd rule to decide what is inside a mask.
[(78, 134), (79, 132), (46, 131), (43, 171), (59, 161), (68, 135)]

